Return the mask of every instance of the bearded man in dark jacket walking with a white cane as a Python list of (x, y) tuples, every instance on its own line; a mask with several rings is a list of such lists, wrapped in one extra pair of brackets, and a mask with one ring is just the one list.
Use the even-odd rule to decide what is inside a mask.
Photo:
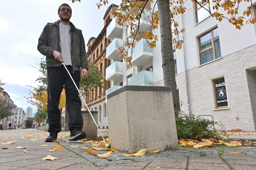
[(60, 18), (58, 21), (45, 25), (37, 46), (38, 51), (46, 56), (47, 115), (50, 135), (45, 142), (55, 142), (58, 132), (61, 131), (61, 113), (58, 105), (64, 85), (69, 116), (69, 141), (86, 138), (86, 133), (82, 131), (83, 117), (79, 93), (61, 62), (64, 62), (63, 64), (66, 65), (77, 87), (79, 87), (81, 66), (82, 77), (88, 76), (85, 41), (82, 31), (75, 28), (69, 21), (72, 16), (72, 10), (68, 4), (63, 3), (59, 6), (58, 15)]

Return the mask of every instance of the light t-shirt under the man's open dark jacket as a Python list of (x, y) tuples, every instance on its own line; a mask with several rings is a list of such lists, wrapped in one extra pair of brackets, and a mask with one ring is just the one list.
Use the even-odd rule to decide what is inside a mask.
[(62, 60), (65, 65), (72, 65), (70, 29), (70, 25), (59, 23), (59, 46), (61, 47)]

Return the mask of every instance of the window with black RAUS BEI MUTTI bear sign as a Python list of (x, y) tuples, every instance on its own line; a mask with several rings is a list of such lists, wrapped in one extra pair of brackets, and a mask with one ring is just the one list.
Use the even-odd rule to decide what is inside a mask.
[(215, 109), (228, 108), (225, 78), (213, 79), (212, 83)]

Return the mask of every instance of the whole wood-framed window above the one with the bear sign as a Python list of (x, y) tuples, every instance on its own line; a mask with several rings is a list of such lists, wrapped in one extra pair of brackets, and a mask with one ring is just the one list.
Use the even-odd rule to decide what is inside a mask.
[(198, 38), (200, 64), (221, 57), (218, 28), (212, 29)]

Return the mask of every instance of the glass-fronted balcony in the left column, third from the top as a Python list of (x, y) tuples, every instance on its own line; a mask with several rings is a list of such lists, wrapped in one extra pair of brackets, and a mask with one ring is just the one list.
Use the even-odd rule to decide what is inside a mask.
[(106, 68), (106, 80), (117, 81), (123, 77), (123, 62), (115, 61)]

